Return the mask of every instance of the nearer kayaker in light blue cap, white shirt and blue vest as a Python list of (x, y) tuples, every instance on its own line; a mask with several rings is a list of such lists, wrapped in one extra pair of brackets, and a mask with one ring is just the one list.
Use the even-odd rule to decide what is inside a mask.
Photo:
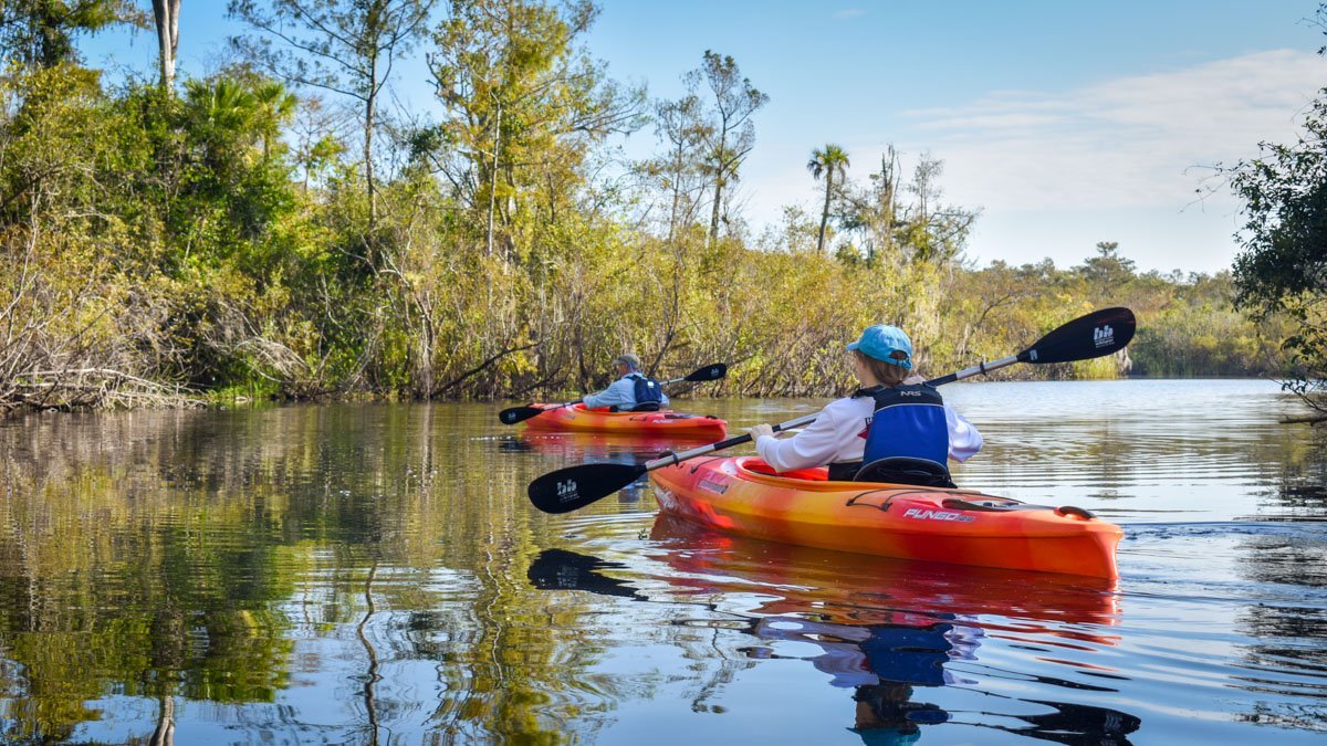
[(776, 471), (829, 467), (831, 479), (851, 481), (867, 463), (886, 457), (967, 461), (982, 447), (971, 422), (946, 404), (934, 386), (913, 373), (912, 340), (898, 327), (877, 324), (848, 344), (861, 388), (829, 402), (816, 421), (792, 438), (774, 437), (770, 425), (750, 429), (756, 453)]

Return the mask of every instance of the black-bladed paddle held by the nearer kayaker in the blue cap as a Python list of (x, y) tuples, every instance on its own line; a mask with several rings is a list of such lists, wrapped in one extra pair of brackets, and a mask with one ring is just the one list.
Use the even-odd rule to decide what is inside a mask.
[[(1103, 357), (1124, 349), (1129, 344), (1129, 340), (1133, 338), (1136, 327), (1137, 323), (1133, 319), (1133, 312), (1128, 308), (1104, 308), (1087, 316), (1080, 316), (1051, 331), (1044, 337), (1036, 340), (1036, 344), (1018, 354), (965, 368), (949, 376), (932, 378), (926, 384), (941, 386), (981, 373), (990, 373), (1015, 362), (1044, 365)], [(774, 431), (782, 433), (815, 422), (816, 414), (780, 422), (774, 426)], [(726, 441), (699, 446), (679, 454), (665, 454), (654, 461), (633, 466), (625, 463), (583, 463), (580, 466), (568, 466), (567, 469), (559, 469), (557, 471), (549, 471), (529, 483), (525, 492), (529, 495), (529, 502), (535, 503), (535, 507), (544, 512), (569, 512), (612, 495), (656, 469), (730, 449), (750, 439), (750, 434), (735, 435)]]

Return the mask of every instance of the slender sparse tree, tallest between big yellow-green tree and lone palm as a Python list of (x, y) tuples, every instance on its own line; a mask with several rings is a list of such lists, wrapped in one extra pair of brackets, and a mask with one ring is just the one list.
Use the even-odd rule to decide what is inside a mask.
[(705, 50), (701, 69), (687, 73), (687, 82), (691, 90), (705, 82), (714, 97), (714, 123), (705, 154), (705, 169), (714, 186), (709, 234), (710, 240), (714, 240), (719, 235), (725, 188), (736, 181), (738, 167), (755, 147), (755, 122), (751, 115), (768, 104), (770, 97), (742, 77), (733, 57), (719, 56), (709, 49)]

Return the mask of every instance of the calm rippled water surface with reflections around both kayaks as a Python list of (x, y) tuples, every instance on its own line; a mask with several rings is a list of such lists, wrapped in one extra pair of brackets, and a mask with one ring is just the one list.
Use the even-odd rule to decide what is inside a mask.
[(5, 422), (0, 738), (1323, 741), (1327, 458), (1275, 385), (945, 393), (987, 441), (957, 481), (1120, 523), (1119, 583), (736, 539), (645, 485), (547, 516), (533, 477), (662, 445), (500, 405)]

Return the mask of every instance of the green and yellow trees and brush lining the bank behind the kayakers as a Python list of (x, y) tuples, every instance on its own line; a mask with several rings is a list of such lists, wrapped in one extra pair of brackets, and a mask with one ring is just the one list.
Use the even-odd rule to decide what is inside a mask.
[[(179, 78), (178, 0), (155, 24), (56, 5), (74, 3), (0, 11), (0, 409), (537, 398), (604, 384), (622, 350), (658, 374), (729, 362), (706, 393), (819, 396), (869, 324), (906, 328), (938, 374), (1105, 305), (1139, 315), (1128, 356), (1002, 374), (1282, 365), (1223, 272), (1139, 273), (1113, 243), (969, 265), (977, 211), (941, 202), (926, 157), (855, 182), (808, 133), (820, 214), (754, 232), (735, 195), (766, 94), (706, 52), (686, 96), (649, 100), (584, 50), (588, 3), (232, 0), (251, 33)], [(126, 23), (155, 29), (161, 65), (110, 84), (76, 40)], [(384, 105), (406, 54), (437, 96), (417, 112)], [(610, 147), (642, 129), (654, 158)]]

